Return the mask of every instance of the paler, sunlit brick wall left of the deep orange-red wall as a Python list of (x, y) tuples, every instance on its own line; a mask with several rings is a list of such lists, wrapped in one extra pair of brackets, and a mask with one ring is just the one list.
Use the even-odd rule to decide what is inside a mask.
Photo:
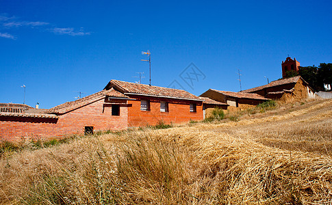
[(75, 109), (59, 119), (18, 118), (0, 116), (0, 139), (18, 141), (21, 138), (48, 139), (84, 134), (85, 126), (94, 131), (127, 128), (128, 107), (120, 107), (120, 116), (112, 116), (112, 107), (103, 107), (104, 99)]

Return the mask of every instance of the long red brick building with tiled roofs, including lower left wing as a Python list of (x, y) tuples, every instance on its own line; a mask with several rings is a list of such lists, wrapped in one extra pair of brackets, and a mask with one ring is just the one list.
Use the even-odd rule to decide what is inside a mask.
[(1, 109), (0, 139), (48, 139), (154, 125), (159, 121), (203, 120), (203, 100), (189, 92), (116, 80), (101, 92), (51, 109), (21, 107), (19, 111)]

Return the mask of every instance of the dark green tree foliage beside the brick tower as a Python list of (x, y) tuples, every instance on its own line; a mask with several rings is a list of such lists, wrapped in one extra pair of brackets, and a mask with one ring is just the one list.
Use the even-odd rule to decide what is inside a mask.
[(315, 90), (324, 90), (324, 84), (332, 84), (332, 64), (300, 67), (298, 74)]

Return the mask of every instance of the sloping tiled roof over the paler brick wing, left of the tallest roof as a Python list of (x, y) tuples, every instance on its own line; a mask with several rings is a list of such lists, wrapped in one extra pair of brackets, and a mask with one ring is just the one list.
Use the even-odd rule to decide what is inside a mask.
[(128, 98), (128, 96), (121, 94), (120, 92), (110, 89), (110, 90), (102, 90), (100, 92), (96, 92), (91, 94), (90, 96), (86, 96), (84, 98), (79, 98), (78, 100), (71, 101), (71, 102), (64, 102), (61, 105), (55, 106), (47, 111), (47, 113), (66, 113), (68, 111), (72, 111), (73, 109), (77, 109), (84, 105), (88, 105), (91, 102), (100, 100), (105, 96), (112, 96), (118, 98)]

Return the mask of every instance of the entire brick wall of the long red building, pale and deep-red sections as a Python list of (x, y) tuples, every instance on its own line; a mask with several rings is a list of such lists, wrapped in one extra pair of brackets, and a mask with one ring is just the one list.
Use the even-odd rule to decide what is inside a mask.
[[(160, 111), (159, 98), (151, 100), (150, 111), (140, 110), (140, 100), (101, 99), (54, 118), (8, 117), (0, 116), (0, 140), (20, 141), (21, 139), (53, 139), (66, 135), (84, 134), (85, 126), (94, 131), (121, 130), (128, 126), (146, 126), (165, 123), (181, 123), (191, 120), (203, 120), (201, 102), (189, 100), (165, 100), (168, 112)], [(127, 104), (129, 105), (126, 105)], [(106, 104), (107, 105), (106, 105)], [(112, 105), (120, 105), (120, 115), (112, 116)], [(190, 103), (196, 105), (196, 112), (190, 112)]]

